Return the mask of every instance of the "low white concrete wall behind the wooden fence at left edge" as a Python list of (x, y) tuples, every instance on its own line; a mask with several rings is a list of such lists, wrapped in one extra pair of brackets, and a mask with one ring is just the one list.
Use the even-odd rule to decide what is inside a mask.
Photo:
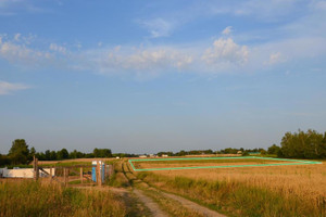
[[(50, 169), (45, 169), (50, 174)], [(52, 174), (54, 174), (54, 168), (52, 169)], [(20, 168), (20, 169), (7, 169), (0, 168), (0, 177), (4, 178), (33, 178), (34, 173), (33, 168)], [(39, 177), (47, 177), (47, 175), (39, 170)]]

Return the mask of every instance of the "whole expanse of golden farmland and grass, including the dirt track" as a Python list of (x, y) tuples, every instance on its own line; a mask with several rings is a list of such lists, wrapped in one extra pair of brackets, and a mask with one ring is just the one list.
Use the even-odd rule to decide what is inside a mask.
[[(130, 161), (138, 169), (180, 169), (135, 171)], [(75, 159), (54, 165), (80, 163)], [(83, 187), (74, 181), (77, 177), (72, 177), (67, 187), (50, 183), (47, 178), (38, 182), (2, 179), (0, 216), (326, 216), (325, 162), (296, 165), (304, 162), (167, 157), (111, 158), (108, 163), (114, 164), (115, 174), (102, 188), (88, 182)], [(294, 165), (280, 165), (284, 163)], [(212, 165), (243, 167), (181, 169)]]

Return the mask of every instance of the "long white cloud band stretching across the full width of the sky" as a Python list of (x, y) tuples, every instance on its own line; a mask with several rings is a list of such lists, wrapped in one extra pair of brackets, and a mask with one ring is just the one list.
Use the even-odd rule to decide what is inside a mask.
[(7, 35), (0, 35), (0, 59), (25, 69), (57, 68), (109, 75), (246, 73), (275, 67), (284, 62), (309, 61), (326, 53), (326, 39), (323, 37), (289, 38), (254, 46), (238, 43), (229, 36), (211, 44), (95, 46), (93, 49), (76, 49), (73, 44), (47, 43), (47, 49), (42, 50), (36, 49), (37, 46), (45, 47), (35, 44), (39, 41), (37, 39), (30, 40), (30, 44), (23, 40), (24, 36), (20, 39), (16, 41), (14, 36), (9, 39)]

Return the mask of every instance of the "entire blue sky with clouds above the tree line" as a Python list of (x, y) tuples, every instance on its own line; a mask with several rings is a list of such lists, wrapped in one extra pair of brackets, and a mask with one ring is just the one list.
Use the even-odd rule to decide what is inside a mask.
[(326, 1), (0, 0), (0, 153), (326, 131)]

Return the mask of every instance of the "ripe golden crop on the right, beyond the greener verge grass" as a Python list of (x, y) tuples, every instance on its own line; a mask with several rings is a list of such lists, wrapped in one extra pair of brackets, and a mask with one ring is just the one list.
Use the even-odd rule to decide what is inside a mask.
[[(196, 171), (196, 173), (195, 173)], [(193, 179), (237, 181), (260, 187), (285, 196), (296, 195), (317, 202), (326, 197), (326, 163), (321, 165), (241, 167), (221, 169), (154, 171), (168, 177), (183, 176)]]

